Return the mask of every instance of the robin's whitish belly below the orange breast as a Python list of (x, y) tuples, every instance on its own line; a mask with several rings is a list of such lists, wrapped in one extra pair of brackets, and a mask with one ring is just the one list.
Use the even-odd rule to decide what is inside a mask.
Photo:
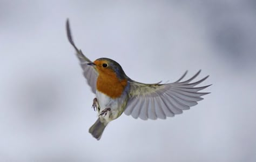
[(120, 98), (112, 99), (106, 96), (104, 93), (96, 91), (96, 97), (100, 106), (100, 112), (106, 108), (110, 108), (110, 112), (107, 112), (106, 116), (99, 116), (99, 118), (110, 122), (120, 116), (123, 113), (126, 106), (126, 95), (123, 94)]

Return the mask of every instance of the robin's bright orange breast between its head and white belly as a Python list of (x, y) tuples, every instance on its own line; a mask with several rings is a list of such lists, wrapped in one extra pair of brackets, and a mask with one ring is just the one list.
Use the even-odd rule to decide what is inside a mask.
[(126, 85), (127, 79), (120, 80), (115, 74), (99, 74), (96, 86), (97, 91), (114, 99), (122, 95)]

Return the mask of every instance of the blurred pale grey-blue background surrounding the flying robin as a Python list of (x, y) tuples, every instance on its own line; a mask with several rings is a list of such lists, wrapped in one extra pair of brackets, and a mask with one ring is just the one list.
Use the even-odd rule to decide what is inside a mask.
[[(144, 83), (199, 69), (204, 100), (166, 120), (123, 114), (97, 141), (73, 38)], [(0, 1), (0, 161), (256, 161), (256, 1)]]

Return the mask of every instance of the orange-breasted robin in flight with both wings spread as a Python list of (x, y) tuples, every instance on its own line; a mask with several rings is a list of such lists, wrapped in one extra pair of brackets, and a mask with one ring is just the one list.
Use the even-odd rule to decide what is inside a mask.
[(106, 125), (123, 112), (135, 119), (166, 119), (197, 105), (199, 100), (203, 100), (201, 96), (208, 94), (198, 91), (210, 85), (194, 87), (208, 76), (190, 83), (199, 75), (200, 70), (184, 82), (180, 81), (187, 71), (173, 83), (139, 83), (127, 77), (122, 67), (112, 59), (98, 58), (91, 62), (73, 42), (69, 20), (66, 21), (66, 31), (69, 42), (76, 50), (84, 77), (92, 92), (96, 94), (92, 107), (97, 110), (98, 119), (89, 132), (97, 140), (102, 137)]

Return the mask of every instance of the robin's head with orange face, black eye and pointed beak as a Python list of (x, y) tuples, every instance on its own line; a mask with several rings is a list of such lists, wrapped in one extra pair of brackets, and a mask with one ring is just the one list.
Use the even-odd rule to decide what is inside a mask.
[(98, 58), (88, 65), (94, 66), (99, 75), (116, 76), (119, 79), (127, 78), (122, 67), (110, 58)]

